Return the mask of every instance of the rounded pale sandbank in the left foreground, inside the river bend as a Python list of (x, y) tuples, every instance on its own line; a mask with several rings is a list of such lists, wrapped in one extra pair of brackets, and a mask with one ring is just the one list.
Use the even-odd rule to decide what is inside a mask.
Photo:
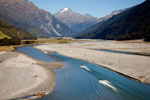
[(61, 63), (35, 60), (17, 52), (0, 52), (0, 99), (30, 96), (38, 98), (48, 94), (55, 86), (53, 69)]

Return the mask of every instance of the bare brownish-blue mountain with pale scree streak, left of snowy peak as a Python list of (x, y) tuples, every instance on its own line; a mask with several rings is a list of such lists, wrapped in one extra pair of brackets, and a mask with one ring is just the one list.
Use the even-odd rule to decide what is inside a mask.
[(69, 36), (73, 32), (28, 0), (0, 0), (0, 17), (36, 37)]

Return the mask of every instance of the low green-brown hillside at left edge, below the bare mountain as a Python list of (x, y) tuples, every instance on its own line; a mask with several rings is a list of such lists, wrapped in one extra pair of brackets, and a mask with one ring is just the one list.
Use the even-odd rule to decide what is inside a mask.
[(26, 33), (21, 29), (11, 26), (2, 18), (0, 18), (0, 39), (11, 37), (19, 39), (34, 39), (34, 37), (29, 33)]

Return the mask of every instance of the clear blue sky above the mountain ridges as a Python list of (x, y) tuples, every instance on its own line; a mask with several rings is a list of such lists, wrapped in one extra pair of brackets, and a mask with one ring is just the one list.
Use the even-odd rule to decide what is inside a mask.
[(120, 10), (140, 4), (144, 0), (29, 0), (39, 8), (56, 13), (63, 8), (71, 8), (75, 12), (89, 13), (95, 17), (103, 17), (114, 10)]

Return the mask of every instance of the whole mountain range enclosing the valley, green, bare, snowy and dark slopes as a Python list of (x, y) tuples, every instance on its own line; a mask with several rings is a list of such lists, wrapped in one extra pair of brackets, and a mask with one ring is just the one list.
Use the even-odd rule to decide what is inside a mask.
[(28, 0), (0, 0), (0, 36), (150, 40), (150, 0), (102, 18), (71, 8), (52, 15)]

